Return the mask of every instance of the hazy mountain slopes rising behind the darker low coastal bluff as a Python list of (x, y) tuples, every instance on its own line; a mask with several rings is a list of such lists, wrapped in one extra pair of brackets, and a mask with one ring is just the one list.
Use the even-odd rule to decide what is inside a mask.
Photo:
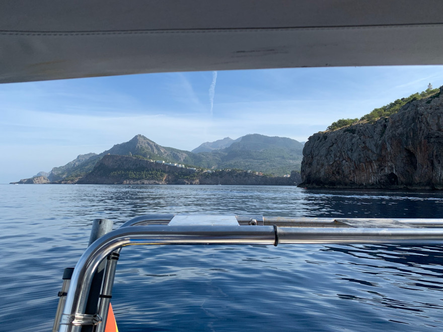
[(108, 154), (178, 162), (210, 170), (252, 170), (276, 176), (300, 170), (303, 144), (296, 140), (278, 136), (248, 134), (236, 140), (226, 137), (218, 141), (224, 141), (223, 144), (217, 143), (218, 147), (227, 144), (229, 146), (213, 149), (211, 152), (194, 153), (161, 146), (151, 139), (137, 134), (129, 141), (114, 144), (110, 149), (101, 153), (80, 154), (67, 164), (54, 167), (47, 178), (50, 182), (79, 179), (92, 172), (97, 162)]

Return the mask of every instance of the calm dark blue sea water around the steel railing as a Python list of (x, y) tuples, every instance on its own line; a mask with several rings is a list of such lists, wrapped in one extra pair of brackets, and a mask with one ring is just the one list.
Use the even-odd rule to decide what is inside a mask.
[[(443, 217), (443, 193), (248, 186), (0, 186), (0, 330), (47, 331), (94, 218)], [(120, 331), (443, 330), (443, 247), (125, 247)]]

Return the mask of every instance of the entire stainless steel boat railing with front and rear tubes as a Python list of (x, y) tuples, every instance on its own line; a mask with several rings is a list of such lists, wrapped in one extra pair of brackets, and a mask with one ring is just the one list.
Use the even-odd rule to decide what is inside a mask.
[(85, 308), (95, 271), (127, 245), (408, 243), (443, 244), (443, 219), (334, 219), (263, 216), (150, 215), (129, 220), (92, 243), (77, 263), (61, 314), (59, 331), (99, 325), (107, 315), (115, 274), (108, 260), (97, 313)]

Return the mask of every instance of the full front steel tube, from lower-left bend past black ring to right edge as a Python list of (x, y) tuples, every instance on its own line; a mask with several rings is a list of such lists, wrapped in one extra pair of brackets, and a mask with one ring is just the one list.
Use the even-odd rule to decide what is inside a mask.
[(92, 277), (100, 262), (118, 248), (127, 245), (277, 245), (277, 243), (443, 244), (443, 228), (324, 228), (240, 225), (120, 227), (92, 243), (77, 263), (67, 292), (59, 331), (79, 331), (81, 326), (77, 325), (82, 323), (82, 319), (92, 319), (84, 316)]

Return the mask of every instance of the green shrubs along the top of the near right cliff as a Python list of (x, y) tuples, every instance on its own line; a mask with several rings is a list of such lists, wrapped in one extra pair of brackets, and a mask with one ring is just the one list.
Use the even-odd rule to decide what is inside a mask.
[(357, 122), (375, 122), (376, 120), (382, 117), (389, 117), (393, 114), (396, 114), (403, 105), (407, 103), (413, 102), (415, 100), (432, 97), (439, 93), (439, 89), (426, 89), (426, 91), (422, 91), (421, 93), (415, 93), (410, 95), (409, 97), (397, 99), (388, 105), (379, 107), (374, 109), (371, 113), (363, 115), (360, 119), (340, 119), (336, 122), (333, 122), (330, 126), (328, 126), (327, 130), (336, 130), (346, 126), (350, 126)]

